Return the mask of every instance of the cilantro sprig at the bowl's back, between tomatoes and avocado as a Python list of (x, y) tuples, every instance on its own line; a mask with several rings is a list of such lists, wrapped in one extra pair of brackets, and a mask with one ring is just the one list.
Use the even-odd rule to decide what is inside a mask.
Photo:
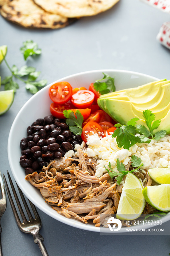
[[(93, 87), (101, 95), (106, 93), (111, 93), (115, 91), (115, 79), (109, 76), (108, 74), (103, 73), (104, 77), (102, 79), (96, 80), (93, 84)], [(107, 79), (105, 82), (100, 82)]]

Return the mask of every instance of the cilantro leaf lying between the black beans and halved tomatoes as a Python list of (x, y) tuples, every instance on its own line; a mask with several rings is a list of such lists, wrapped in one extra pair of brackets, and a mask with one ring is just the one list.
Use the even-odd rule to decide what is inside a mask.
[(72, 110), (64, 110), (63, 114), (66, 118), (66, 124), (69, 126), (71, 132), (75, 135), (81, 135), (82, 123), (84, 118), (79, 110), (76, 110), (75, 114)]

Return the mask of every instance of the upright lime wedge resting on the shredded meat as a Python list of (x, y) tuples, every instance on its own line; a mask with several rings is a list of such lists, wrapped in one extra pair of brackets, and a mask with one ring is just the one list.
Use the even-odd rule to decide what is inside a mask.
[(142, 184), (132, 173), (128, 173), (122, 189), (116, 217), (132, 220), (138, 218), (145, 207)]

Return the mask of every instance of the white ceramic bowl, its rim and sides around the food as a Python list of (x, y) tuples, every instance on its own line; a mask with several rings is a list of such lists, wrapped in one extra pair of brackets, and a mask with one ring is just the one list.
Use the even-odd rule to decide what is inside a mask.
[[(116, 90), (136, 87), (142, 84), (152, 82), (154, 80), (158, 80), (157, 78), (154, 78), (152, 76), (136, 72), (107, 69), (82, 72), (75, 75), (67, 76), (55, 82), (67, 81), (72, 85), (73, 88), (81, 86), (88, 88), (90, 83), (94, 82), (97, 79), (103, 78), (102, 72), (107, 73), (112, 77), (115, 77)], [(26, 129), (29, 125), (31, 125), (36, 119), (44, 118), (45, 116), (50, 114), (51, 100), (49, 98), (48, 90), (51, 84), (49, 84), (49, 86), (46, 86), (38, 93), (33, 95), (22, 107), (22, 109), (16, 116), (15, 120), (13, 121), (8, 139), (8, 159), (12, 170), (12, 174), (20, 189), (28, 197), (28, 199), (30, 199), (31, 202), (35, 204), (35, 206), (37, 206), (40, 210), (42, 210), (49, 216), (65, 224), (78, 227), (80, 229), (97, 232), (100, 232), (102, 230), (103, 232), (107, 232), (108, 228), (95, 227), (94, 225), (85, 224), (83, 222), (79, 222), (74, 219), (68, 219), (62, 215), (59, 215), (55, 210), (53, 210), (50, 207), (50, 205), (45, 203), (45, 200), (41, 196), (39, 190), (33, 187), (28, 181), (25, 180), (24, 169), (19, 164), (19, 159), (21, 156), (20, 140), (23, 137), (27, 136)], [(170, 215), (168, 214), (162, 218), (162, 222), (166, 222), (169, 219)], [(151, 225), (148, 227), (151, 227)], [(140, 227), (138, 226), (138, 228)], [(121, 228), (117, 232), (125, 232), (125, 228)]]

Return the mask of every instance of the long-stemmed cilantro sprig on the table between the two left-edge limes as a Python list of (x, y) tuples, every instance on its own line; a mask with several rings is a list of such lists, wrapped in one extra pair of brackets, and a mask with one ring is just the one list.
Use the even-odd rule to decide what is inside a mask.
[[(32, 43), (33, 41), (31, 41), (31, 44)], [(2, 51), (1, 51), (1, 54), (3, 55)], [(38, 51), (37, 51), (37, 54), (38, 54)], [(4, 57), (5, 64), (7, 65), (9, 71), (11, 72), (11, 75), (5, 76), (5, 78), (1, 82), (1, 84), (4, 85), (4, 90), (13, 89), (14, 92), (16, 92), (16, 90), (19, 89), (19, 84), (15, 81), (15, 79), (18, 79), (23, 83), (25, 83), (26, 89), (29, 90), (30, 93), (32, 94), (37, 93), (40, 87), (43, 87), (46, 85), (47, 80), (39, 80), (39, 81), (36, 80), (39, 77), (41, 72), (36, 71), (34, 67), (28, 67), (27, 65), (24, 65), (20, 69), (18, 69), (16, 65), (13, 65), (12, 67), (10, 67), (9, 64), (7, 63), (7, 60), (5, 59), (5, 56), (3, 57)]]

